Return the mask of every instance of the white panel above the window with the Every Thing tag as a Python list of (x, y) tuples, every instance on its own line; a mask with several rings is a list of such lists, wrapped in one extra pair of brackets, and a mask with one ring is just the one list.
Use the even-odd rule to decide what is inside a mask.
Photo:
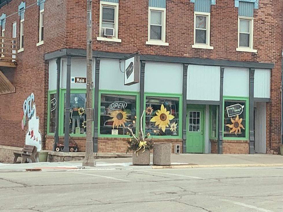
[(249, 69), (224, 69), (223, 96), (249, 96)]

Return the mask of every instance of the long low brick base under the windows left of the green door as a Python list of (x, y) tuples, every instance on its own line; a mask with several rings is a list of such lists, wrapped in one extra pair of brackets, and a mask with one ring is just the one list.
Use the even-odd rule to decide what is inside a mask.
[[(79, 152), (86, 151), (86, 138), (72, 137), (79, 147)], [(127, 140), (128, 138), (99, 138), (98, 139), (98, 152), (109, 152), (109, 153), (124, 153), (127, 151)], [(153, 139), (154, 142), (158, 143), (171, 143), (172, 150), (174, 153), (175, 144), (181, 145), (182, 153), (182, 140), (181, 139)], [(60, 143), (64, 143), (64, 137), (59, 138)], [(71, 142), (71, 140), (70, 140)], [(53, 150), (54, 138), (53, 136), (46, 137), (46, 149)]]

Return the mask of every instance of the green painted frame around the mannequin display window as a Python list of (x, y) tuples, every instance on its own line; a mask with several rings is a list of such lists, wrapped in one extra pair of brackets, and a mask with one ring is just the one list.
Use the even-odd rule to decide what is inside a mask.
[[(85, 93), (86, 94), (86, 89), (84, 88), (78, 88), (78, 89), (71, 89), (71, 94), (80, 94), (80, 93)], [(60, 108), (59, 108), (59, 136), (64, 136), (64, 96), (66, 94), (66, 89), (62, 88), (60, 89)], [(94, 104), (94, 101), (93, 101)], [(70, 133), (71, 137), (86, 137), (86, 134), (73, 134)]]

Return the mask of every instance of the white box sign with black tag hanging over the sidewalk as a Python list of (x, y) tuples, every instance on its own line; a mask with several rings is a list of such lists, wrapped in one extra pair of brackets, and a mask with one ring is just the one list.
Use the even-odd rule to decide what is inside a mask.
[(139, 82), (140, 56), (135, 55), (125, 60), (124, 84), (132, 85)]

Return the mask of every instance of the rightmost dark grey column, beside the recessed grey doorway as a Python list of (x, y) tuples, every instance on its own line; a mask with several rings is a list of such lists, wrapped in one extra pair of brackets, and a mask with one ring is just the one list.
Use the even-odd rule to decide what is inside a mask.
[(254, 149), (254, 69), (249, 69), (249, 154)]

